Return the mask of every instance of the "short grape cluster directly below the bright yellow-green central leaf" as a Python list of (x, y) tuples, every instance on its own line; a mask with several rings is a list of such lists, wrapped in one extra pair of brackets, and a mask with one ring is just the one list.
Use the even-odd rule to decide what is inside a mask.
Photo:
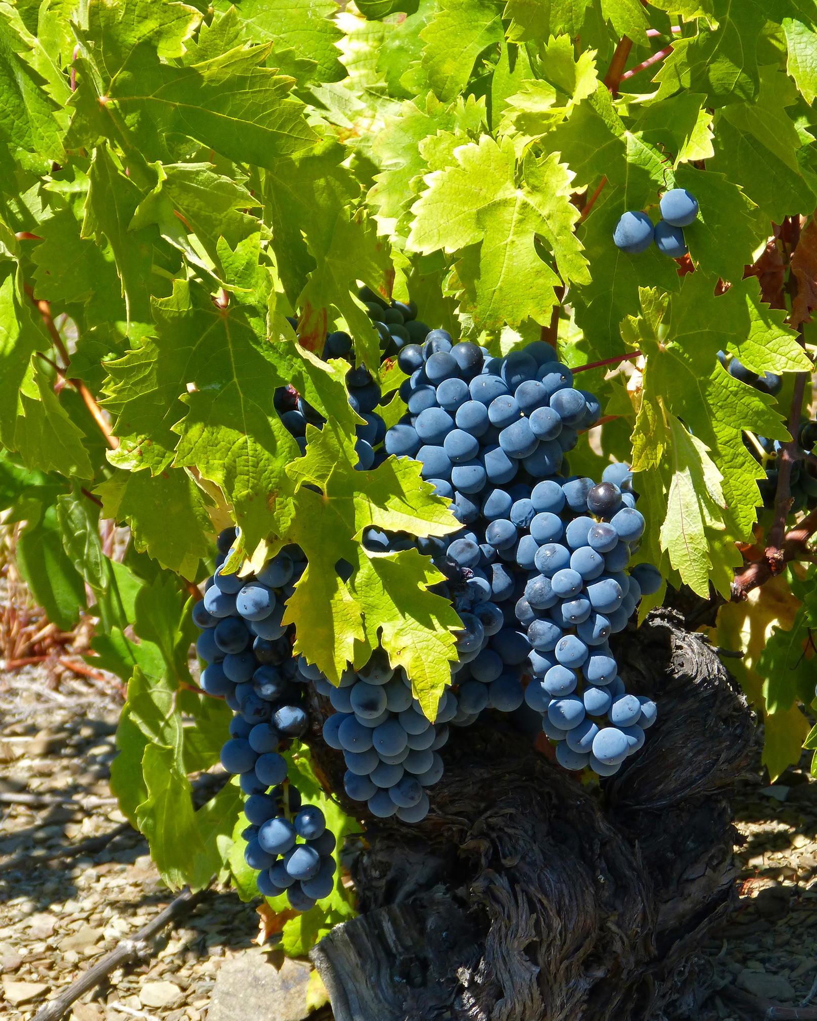
[(382, 648), (363, 670), (344, 671), (339, 687), (314, 666), (304, 672), (335, 710), (324, 723), (324, 740), (343, 752), (348, 796), (366, 801), (381, 819), (424, 819), (429, 811), (425, 788), (442, 777), (437, 749), (447, 741), (446, 722), (456, 713), (453, 695), (443, 694), (432, 724), (413, 697), (404, 671), (389, 666)]

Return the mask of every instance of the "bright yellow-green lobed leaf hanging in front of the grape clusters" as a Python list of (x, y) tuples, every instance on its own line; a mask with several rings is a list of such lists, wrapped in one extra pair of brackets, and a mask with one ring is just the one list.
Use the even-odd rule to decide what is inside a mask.
[[(421, 684), (426, 677), (433, 679), (441, 691), (448, 660), (454, 655), (449, 629), (459, 626), (450, 603), (426, 590), (441, 576), (428, 560), (406, 551), (385, 557), (404, 566), (402, 579), (392, 567), (371, 566), (369, 562), (378, 557), (363, 547), (361, 537), (371, 526), (444, 535), (456, 531), (458, 523), (421, 480), (417, 461), (389, 457), (374, 472), (355, 472), (356, 454), (349, 440), (330, 426), (321, 432), (307, 427), (306, 455), (287, 468), (295, 493), (286, 536), (283, 529), (281, 534), (297, 542), (308, 561), (284, 616), (285, 621), (298, 622), (295, 650), (337, 683), (347, 662), (355, 660), (355, 641), (375, 634), (375, 622), (385, 620), (391, 604), (401, 605), (407, 590), (416, 593), (412, 633), (401, 631), (401, 622), (391, 621), (388, 630), (384, 624), (383, 645), (393, 666), (402, 666)], [(319, 487), (321, 493), (306, 484)], [(351, 568), (348, 581), (335, 568), (341, 558)], [(433, 659), (421, 662), (419, 649), (424, 643)], [(430, 701), (432, 696), (425, 697)], [(435, 704), (437, 697), (439, 691)]]

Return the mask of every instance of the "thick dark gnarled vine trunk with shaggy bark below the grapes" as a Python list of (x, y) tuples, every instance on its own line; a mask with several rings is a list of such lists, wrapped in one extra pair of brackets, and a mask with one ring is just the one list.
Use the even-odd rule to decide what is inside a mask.
[[(520, 734), (452, 727), (427, 818), (368, 821), (361, 915), (311, 955), (336, 1021), (694, 1014), (696, 952), (733, 895), (729, 793), (754, 727), (682, 623), (655, 611), (617, 636), (627, 689), (659, 718), (600, 791)], [(314, 755), (342, 791), (342, 756), (320, 739)]]

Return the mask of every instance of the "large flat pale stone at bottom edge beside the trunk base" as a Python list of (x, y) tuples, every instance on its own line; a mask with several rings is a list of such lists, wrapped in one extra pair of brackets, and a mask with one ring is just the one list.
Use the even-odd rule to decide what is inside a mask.
[(290, 958), (277, 971), (259, 950), (242, 951), (219, 970), (207, 1021), (302, 1021), (310, 971)]

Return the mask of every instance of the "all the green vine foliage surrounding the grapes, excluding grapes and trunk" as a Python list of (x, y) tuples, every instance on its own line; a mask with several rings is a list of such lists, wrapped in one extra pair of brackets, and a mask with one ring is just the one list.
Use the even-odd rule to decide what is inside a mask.
[[(631, 463), (636, 561), (729, 599), (771, 521), (744, 435), (790, 439), (812, 371), (813, 0), (19, 0), (0, 35), (0, 505), (49, 618), (70, 628), (88, 598), (99, 618), (89, 661), (128, 683), (113, 787), (169, 881), (232, 870), (254, 893), (237, 786), (194, 812), (188, 779), (230, 719), (188, 661), (221, 528), (241, 530), (230, 568), (302, 547), (285, 622), (329, 678), (382, 637), (433, 715), (455, 655), (430, 558), (362, 543), (459, 525), (416, 461), (355, 471), (327, 330), (353, 337), (386, 423), (405, 410), (361, 285), (492, 353), (545, 337), (571, 367), (609, 362), (581, 377), (605, 419), (571, 471)], [(658, 220), (675, 187), (700, 202), (689, 255), (616, 249), (621, 214)], [(287, 383), (328, 420), (303, 456), (273, 406)], [(122, 561), (102, 518), (130, 526)], [(739, 667), (773, 774), (814, 695), (812, 576), (790, 575)], [(723, 644), (757, 631), (757, 596), (728, 607)], [(337, 889), (287, 923), (289, 949), (347, 917)]]

